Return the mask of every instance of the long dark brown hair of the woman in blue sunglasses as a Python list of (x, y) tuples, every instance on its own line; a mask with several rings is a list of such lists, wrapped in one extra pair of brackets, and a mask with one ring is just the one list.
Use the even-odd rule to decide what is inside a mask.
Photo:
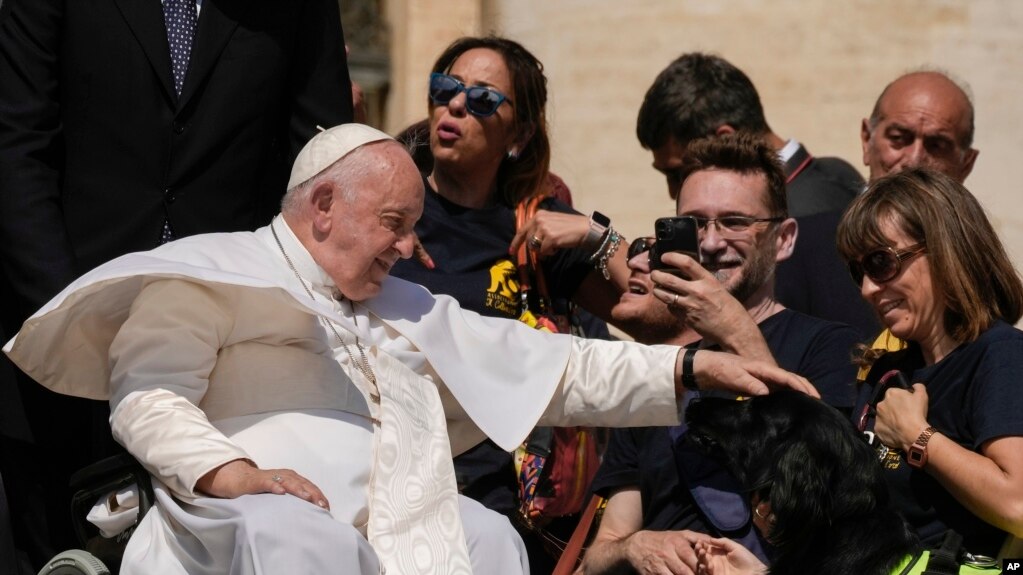
[[(497, 170), (497, 189), (500, 200), (515, 206), (532, 195), (543, 193), (550, 170), (550, 141), (547, 137), (547, 79), (543, 64), (522, 44), (488, 36), (465, 37), (455, 40), (437, 58), (431, 72), (447, 73), (458, 56), (476, 48), (493, 50), (501, 55), (511, 75), (515, 124), (518, 135), (532, 132), (532, 136), (515, 160), (505, 159)], [(433, 104), (431, 104), (433, 105)]]

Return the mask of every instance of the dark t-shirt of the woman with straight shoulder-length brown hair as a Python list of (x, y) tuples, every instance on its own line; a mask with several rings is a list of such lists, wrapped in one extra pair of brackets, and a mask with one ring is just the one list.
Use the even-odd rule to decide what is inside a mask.
[[(928, 366), (916, 344), (885, 354), (868, 374), (854, 414), (870, 401), (873, 384), (890, 369), (902, 371), (910, 384), (927, 386), (928, 424), (966, 449), (979, 452), (987, 440), (1023, 436), (1023, 331), (996, 322), (975, 342)], [(866, 430), (873, 429), (872, 415)], [(909, 467), (898, 451), (879, 444), (878, 455), (896, 508), (925, 544), (939, 545), (951, 528), (963, 536), (970, 552), (997, 555), (1006, 532), (970, 513), (926, 470)]]

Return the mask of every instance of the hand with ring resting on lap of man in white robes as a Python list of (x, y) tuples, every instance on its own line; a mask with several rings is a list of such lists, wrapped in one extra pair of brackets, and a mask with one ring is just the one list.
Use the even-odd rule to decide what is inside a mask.
[(291, 493), (300, 499), (329, 510), (323, 492), (311, 481), (292, 470), (261, 470), (248, 459), (234, 459), (207, 473), (195, 483), (196, 489), (232, 499), (252, 493)]

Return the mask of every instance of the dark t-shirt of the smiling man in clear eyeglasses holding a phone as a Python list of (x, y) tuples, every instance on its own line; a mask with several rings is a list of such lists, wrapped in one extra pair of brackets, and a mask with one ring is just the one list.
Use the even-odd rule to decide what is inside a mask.
[[(856, 378), (851, 352), (858, 341), (852, 327), (792, 310), (768, 317), (759, 327), (779, 365), (808, 379), (831, 405), (849, 410)], [(669, 429), (612, 431), (593, 491), (609, 496), (618, 489), (638, 487), (642, 529), (707, 533), (688, 488), (679, 483)]]

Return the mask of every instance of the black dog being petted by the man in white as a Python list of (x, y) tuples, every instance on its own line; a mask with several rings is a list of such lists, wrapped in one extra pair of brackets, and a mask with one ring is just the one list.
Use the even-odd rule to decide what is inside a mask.
[(704, 398), (687, 438), (752, 496), (769, 501), (770, 573), (888, 574), (917, 538), (889, 505), (877, 455), (838, 410), (793, 391), (747, 401)]

